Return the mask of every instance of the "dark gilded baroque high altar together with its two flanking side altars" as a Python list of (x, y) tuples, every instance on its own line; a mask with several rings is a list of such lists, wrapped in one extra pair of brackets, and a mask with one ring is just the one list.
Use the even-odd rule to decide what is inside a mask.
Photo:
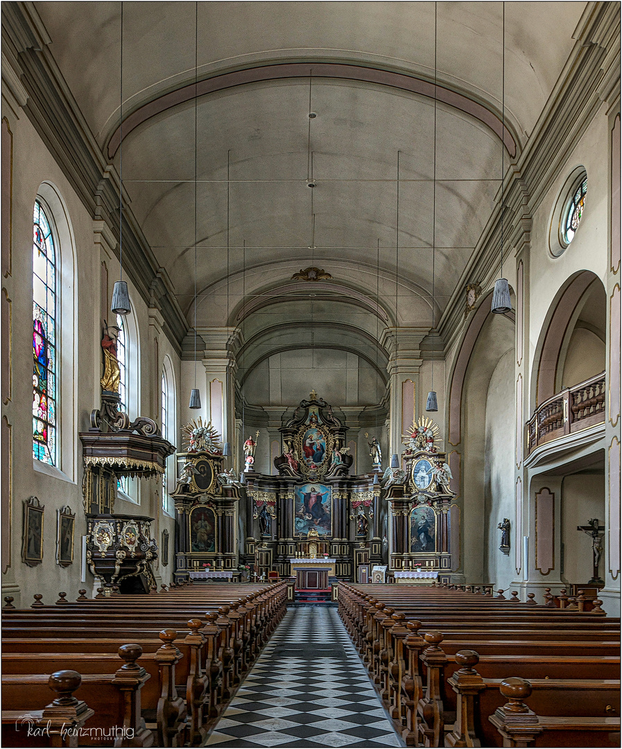
[[(457, 568), (460, 515), (438, 427), (419, 419), (403, 435), (401, 467), (379, 461), (351, 475), (347, 426), (311, 392), (281, 426), (277, 475), (254, 470), (252, 437), (240, 479), (225, 470), (210, 424), (184, 428), (175, 500), (176, 580), (227, 574), (296, 577), (296, 587), (326, 589), (331, 580), (448, 581)], [(372, 456), (373, 458), (373, 456)], [(240, 538), (240, 531), (245, 538)], [(383, 538), (384, 537), (384, 538)]]

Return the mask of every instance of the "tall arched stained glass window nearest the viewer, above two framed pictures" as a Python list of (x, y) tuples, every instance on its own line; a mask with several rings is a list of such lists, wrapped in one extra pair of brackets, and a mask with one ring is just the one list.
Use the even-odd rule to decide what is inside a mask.
[(57, 464), (56, 252), (49, 219), (37, 200), (32, 240), (32, 456)]

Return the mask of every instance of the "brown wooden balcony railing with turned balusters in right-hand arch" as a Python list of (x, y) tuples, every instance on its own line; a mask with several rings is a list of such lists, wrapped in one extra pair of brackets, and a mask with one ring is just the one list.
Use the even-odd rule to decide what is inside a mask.
[(527, 452), (564, 434), (605, 421), (605, 372), (540, 404), (527, 423)]

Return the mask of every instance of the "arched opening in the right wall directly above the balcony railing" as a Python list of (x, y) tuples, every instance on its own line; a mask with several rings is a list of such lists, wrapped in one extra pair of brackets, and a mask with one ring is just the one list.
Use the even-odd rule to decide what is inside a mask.
[[(593, 308), (594, 303), (597, 304), (600, 297), (604, 304), (606, 297), (603, 284), (591, 270), (581, 270), (571, 276), (555, 295), (534, 352), (531, 374), (531, 410), (555, 395), (555, 392), (561, 390), (563, 386), (578, 384), (562, 381), (565, 379), (564, 363), (567, 362), (569, 354), (573, 355), (573, 331), (578, 329), (577, 323), (581, 320), (582, 312), (587, 311), (588, 307)], [(602, 312), (604, 319), (606, 312), (604, 309)], [(594, 309), (591, 309), (589, 316), (593, 317), (593, 313)], [(600, 338), (597, 332), (599, 327), (600, 323), (594, 325), (588, 322), (579, 329), (591, 333), (595, 338)], [(604, 330), (600, 331), (600, 333), (604, 332)], [(575, 341), (575, 344), (577, 343)], [(599, 372), (605, 369), (604, 354), (603, 345), (603, 367)], [(597, 374), (598, 372), (591, 372), (588, 377)]]

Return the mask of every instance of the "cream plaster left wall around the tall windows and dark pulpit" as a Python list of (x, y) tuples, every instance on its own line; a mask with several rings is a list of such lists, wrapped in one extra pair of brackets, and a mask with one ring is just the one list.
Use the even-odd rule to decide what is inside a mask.
[[(16, 599), (15, 604), (29, 606), (34, 593), (42, 593), (43, 601), (51, 604), (58, 598), (59, 591), (67, 592), (67, 598), (75, 599), (79, 588), (91, 592), (93, 577), (86, 573), (86, 582), (81, 580), (82, 536), (86, 531), (84, 507), (82, 503), (82, 449), (78, 432), (88, 430), (91, 410), (100, 404), (101, 327), (99, 298), (100, 252), (94, 248), (93, 222), (88, 210), (79, 200), (61, 169), (47, 151), (40, 137), (31, 127), (28, 119), (17, 118), (10, 106), (3, 100), (3, 115), (10, 121), (13, 132), (13, 202), (12, 202), (12, 274), (4, 279), (3, 285), (12, 301), (12, 349), (11, 362), (13, 392), (12, 398), (3, 413), (12, 425), (13, 435), (13, 491), (10, 522), (10, 567), (3, 575), (3, 589)], [(69, 456), (64, 453), (60, 470), (44, 466), (34, 467), (32, 459), (31, 434), (31, 373), (32, 373), (32, 207), (37, 190), (43, 182), (51, 184), (61, 198), (73, 231), (73, 252), (76, 263), (76, 309), (75, 329), (70, 321), (63, 321), (64, 346), (76, 346), (75, 367), (72, 373), (67, 368), (62, 377), (73, 380), (73, 423), (64, 423), (61, 440), (73, 440), (73, 450)], [(67, 243), (61, 247), (61, 255), (70, 255)], [(109, 299), (112, 284), (118, 272), (118, 263), (109, 260)], [(179, 359), (164, 336), (159, 336), (159, 363), (154, 359), (153, 331), (150, 331), (147, 306), (129, 284), (130, 295), (135, 309), (142, 346), (142, 366), (140, 368), (139, 407), (130, 409), (130, 416), (150, 416), (160, 420), (160, 377), (162, 357), (168, 354), (179, 382)], [(61, 288), (61, 294), (69, 294), (69, 288)], [(73, 339), (72, 340), (72, 333)], [(61, 408), (67, 407), (67, 402)], [(179, 412), (179, 410), (178, 410)], [(5, 479), (5, 477), (3, 477)], [(116, 512), (151, 515), (156, 518), (152, 524), (153, 536), (158, 543), (161, 531), (168, 527), (171, 545), (169, 560), (173, 559), (174, 530), (171, 518), (162, 519), (159, 481), (138, 482), (139, 503), (118, 500)], [(36, 496), (45, 506), (43, 516), (43, 563), (30, 568), (22, 562), (22, 515), (23, 502)], [(74, 561), (68, 567), (56, 563), (56, 523), (57, 511), (61, 506), (69, 506), (76, 514), (74, 536)], [(5, 534), (7, 539), (7, 534)], [(162, 579), (168, 583), (171, 571), (160, 568)], [(158, 570), (156, 569), (156, 575)], [(16, 589), (19, 586), (19, 592)]]

